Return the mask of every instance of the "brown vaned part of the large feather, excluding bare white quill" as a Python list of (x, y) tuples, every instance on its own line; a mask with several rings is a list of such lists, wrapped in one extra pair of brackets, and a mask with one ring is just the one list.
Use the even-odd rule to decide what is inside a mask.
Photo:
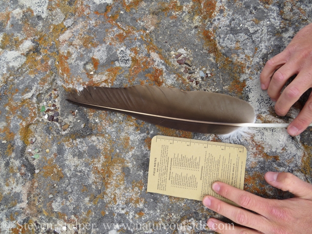
[[(92, 87), (68, 93), (79, 105), (115, 111), (164, 127), (184, 131), (228, 134), (235, 123), (254, 123), (254, 108), (246, 101), (205, 91), (136, 85), (127, 88)], [(232, 124), (232, 125), (231, 125)]]

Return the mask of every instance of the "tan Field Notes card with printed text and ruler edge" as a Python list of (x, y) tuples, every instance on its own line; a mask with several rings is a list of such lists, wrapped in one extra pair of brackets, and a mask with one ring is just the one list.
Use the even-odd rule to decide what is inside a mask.
[(195, 200), (213, 195), (229, 202), (211, 186), (222, 181), (243, 189), (246, 156), (247, 150), (241, 145), (155, 136), (147, 192)]

